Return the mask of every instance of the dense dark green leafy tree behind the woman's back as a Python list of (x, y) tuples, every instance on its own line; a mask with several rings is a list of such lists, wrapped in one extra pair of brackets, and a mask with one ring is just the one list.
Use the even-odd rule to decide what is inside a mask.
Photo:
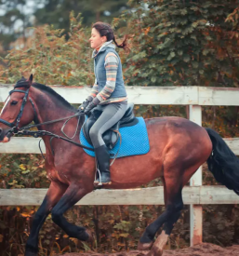
[(238, 87), (238, 40), (225, 22), (231, 1), (131, 1), (115, 23), (134, 34), (128, 85)]

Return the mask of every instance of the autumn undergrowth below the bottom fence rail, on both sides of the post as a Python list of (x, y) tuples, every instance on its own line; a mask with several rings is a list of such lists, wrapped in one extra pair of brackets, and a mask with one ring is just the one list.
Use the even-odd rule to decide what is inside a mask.
[[(23, 254), (36, 207), (1, 207), (0, 250), (3, 256)], [(66, 236), (49, 215), (40, 231), (39, 255), (62, 252), (117, 252), (136, 249), (144, 228), (163, 211), (161, 206), (95, 206), (73, 207), (65, 214), (69, 222), (94, 232), (92, 244)], [(204, 241), (230, 246), (239, 242), (238, 214), (235, 206), (204, 206)], [(167, 249), (189, 246), (189, 207), (182, 210), (179, 222), (166, 245)], [(14, 221), (13, 221), (14, 220)]]

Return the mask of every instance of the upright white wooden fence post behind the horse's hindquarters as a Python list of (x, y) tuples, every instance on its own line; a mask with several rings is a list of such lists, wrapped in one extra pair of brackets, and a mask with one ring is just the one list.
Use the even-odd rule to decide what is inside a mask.
[[(190, 105), (189, 119), (202, 126), (202, 108), (198, 105)], [(191, 186), (202, 185), (202, 167), (194, 173), (190, 180)], [(202, 243), (203, 239), (203, 207), (200, 205), (190, 205), (190, 245)]]

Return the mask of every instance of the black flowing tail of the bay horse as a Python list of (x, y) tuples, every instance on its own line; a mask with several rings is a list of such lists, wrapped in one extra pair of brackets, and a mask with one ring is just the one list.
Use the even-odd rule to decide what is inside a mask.
[(209, 170), (217, 182), (239, 195), (239, 158), (215, 130), (206, 128), (206, 131), (213, 144), (212, 155), (206, 160)]

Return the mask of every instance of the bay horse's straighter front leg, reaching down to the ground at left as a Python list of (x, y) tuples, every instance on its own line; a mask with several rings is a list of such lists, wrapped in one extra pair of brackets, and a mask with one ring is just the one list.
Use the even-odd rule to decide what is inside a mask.
[(26, 243), (25, 256), (37, 256), (39, 231), (50, 210), (57, 204), (67, 186), (60, 182), (51, 182), (40, 208), (33, 217), (33, 225)]

